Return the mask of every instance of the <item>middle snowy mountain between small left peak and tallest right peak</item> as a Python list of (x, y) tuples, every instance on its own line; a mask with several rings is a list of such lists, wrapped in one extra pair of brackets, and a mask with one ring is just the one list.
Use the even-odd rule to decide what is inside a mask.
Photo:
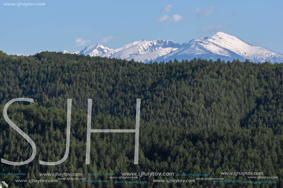
[(180, 44), (177, 44), (172, 41), (140, 40), (126, 44), (120, 48), (102, 54), (100, 56), (110, 58), (121, 58), (127, 60), (131, 60), (133, 58), (136, 61), (147, 62), (165, 54), (168, 54), (179, 47)]

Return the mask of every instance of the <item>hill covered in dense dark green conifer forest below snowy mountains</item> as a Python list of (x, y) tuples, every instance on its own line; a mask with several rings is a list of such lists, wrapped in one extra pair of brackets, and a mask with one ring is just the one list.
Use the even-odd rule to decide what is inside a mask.
[[(127, 187), (248, 187), (244, 183), (196, 180), (155, 183), (153, 179), (194, 179), (177, 174), (203, 173), (210, 178), (248, 181), (221, 172), (263, 172), (283, 182), (283, 64), (193, 59), (178, 62), (126, 61), (115, 58), (42, 52), (24, 57), (0, 51), (0, 156), (27, 160), (29, 143), (3, 118), (14, 98), (33, 98), (8, 108), (9, 118), (35, 142), (35, 159), (27, 165), (0, 163), (2, 181), (16, 187), (120, 187), (109, 176), (87, 173), (174, 172), (168, 177), (140, 177), (146, 184)], [(72, 99), (70, 153), (65, 154), (67, 99)], [(92, 133), (90, 164), (85, 164), (87, 99), (92, 98), (92, 129), (134, 129), (136, 99), (141, 99), (139, 165), (134, 165), (133, 133)], [(54, 178), (39, 173), (82, 173), (107, 183), (17, 183)], [(200, 177), (202, 178), (202, 177)], [(254, 181), (255, 179), (250, 179)], [(120, 180), (117, 180), (120, 181)]]

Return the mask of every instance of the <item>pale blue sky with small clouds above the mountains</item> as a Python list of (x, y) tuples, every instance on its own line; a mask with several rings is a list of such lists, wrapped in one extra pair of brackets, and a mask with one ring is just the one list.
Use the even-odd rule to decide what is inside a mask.
[[(45, 3), (4, 6), (3, 3)], [(283, 1), (3, 0), (0, 50), (80, 51), (146, 40), (183, 43), (218, 31), (283, 54)]]

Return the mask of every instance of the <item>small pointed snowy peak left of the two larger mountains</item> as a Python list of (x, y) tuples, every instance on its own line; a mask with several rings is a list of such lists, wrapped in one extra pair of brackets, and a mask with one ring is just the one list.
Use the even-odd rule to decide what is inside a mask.
[(86, 46), (83, 50), (81, 50), (78, 54), (83, 54), (83, 55), (90, 55), (90, 56), (99, 56), (101, 54), (104, 54), (106, 52), (109, 52), (113, 49), (108, 48), (106, 46), (103, 46), (98, 43), (94, 43), (92, 45)]

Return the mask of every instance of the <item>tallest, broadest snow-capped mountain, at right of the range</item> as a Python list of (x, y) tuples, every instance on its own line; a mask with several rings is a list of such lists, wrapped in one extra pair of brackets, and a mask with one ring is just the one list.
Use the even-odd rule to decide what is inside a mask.
[(283, 54), (273, 52), (260, 46), (252, 46), (243, 40), (218, 32), (210, 37), (196, 38), (182, 44), (182, 46), (156, 59), (156, 61), (169, 61), (170, 59), (206, 58), (216, 60), (249, 59), (253, 62), (283, 62)]

